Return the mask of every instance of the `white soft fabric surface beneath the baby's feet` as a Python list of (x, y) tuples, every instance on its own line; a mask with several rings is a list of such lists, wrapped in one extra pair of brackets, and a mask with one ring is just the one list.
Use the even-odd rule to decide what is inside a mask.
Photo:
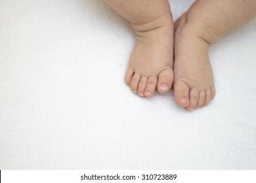
[(0, 0), (0, 169), (256, 169), (255, 30), (211, 46), (217, 95), (189, 112), (124, 84), (134, 33), (103, 1)]

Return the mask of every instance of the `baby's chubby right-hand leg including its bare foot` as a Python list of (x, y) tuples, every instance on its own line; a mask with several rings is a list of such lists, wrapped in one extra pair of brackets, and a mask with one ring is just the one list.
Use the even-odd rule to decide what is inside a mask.
[(210, 44), (256, 16), (255, 0), (197, 0), (175, 22), (174, 95), (189, 110), (215, 95)]

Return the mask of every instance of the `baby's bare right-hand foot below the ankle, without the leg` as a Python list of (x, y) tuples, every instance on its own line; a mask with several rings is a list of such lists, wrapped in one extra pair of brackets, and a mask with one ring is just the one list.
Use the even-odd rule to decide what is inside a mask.
[(215, 88), (208, 56), (210, 44), (195, 33), (196, 27), (186, 18), (183, 14), (175, 22), (174, 96), (179, 106), (193, 110), (207, 105)]

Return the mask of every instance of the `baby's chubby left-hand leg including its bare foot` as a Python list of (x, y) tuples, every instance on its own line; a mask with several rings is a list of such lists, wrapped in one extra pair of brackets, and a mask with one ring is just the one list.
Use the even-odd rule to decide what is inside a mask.
[(105, 0), (126, 18), (136, 33), (136, 43), (126, 84), (141, 97), (166, 93), (174, 80), (174, 23), (168, 0)]

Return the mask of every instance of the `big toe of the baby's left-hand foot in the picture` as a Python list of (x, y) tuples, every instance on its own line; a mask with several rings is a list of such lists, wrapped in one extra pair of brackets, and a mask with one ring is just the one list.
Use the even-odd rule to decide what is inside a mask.
[(157, 90), (160, 93), (166, 93), (172, 87), (172, 82), (174, 82), (174, 71), (170, 67), (168, 69), (164, 69), (158, 75), (158, 82), (157, 82)]

